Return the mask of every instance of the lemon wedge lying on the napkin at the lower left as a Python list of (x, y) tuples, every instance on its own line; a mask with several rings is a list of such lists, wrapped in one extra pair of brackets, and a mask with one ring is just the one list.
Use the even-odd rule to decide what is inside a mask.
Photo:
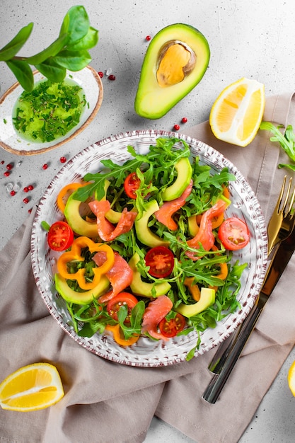
[(64, 396), (57, 368), (49, 363), (21, 367), (0, 384), (3, 409), (28, 412), (52, 406)]

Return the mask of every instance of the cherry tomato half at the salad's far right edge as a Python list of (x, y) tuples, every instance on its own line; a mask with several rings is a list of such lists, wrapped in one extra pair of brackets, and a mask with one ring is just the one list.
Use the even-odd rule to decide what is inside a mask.
[(224, 248), (229, 249), (229, 251), (244, 248), (250, 240), (247, 225), (243, 220), (236, 217), (231, 217), (222, 222), (218, 236)]

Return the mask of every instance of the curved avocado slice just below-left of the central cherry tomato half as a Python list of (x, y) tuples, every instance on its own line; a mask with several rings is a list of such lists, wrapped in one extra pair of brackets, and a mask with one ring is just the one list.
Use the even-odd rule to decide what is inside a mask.
[(134, 253), (129, 260), (129, 266), (133, 271), (132, 283), (130, 288), (134, 295), (141, 295), (141, 297), (153, 297), (152, 289), (156, 291), (156, 297), (165, 295), (169, 291), (171, 285), (168, 282), (161, 283), (146, 283), (141, 280), (141, 273), (137, 270), (137, 263), (139, 262), (138, 253)]

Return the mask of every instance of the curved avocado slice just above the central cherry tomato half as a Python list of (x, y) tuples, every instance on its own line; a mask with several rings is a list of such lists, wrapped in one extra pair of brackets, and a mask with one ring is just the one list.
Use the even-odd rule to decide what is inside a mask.
[(134, 226), (137, 231), (137, 238), (141, 243), (150, 248), (154, 248), (155, 246), (168, 246), (169, 241), (163, 240), (161, 237), (154, 234), (154, 232), (149, 229), (149, 217), (154, 214), (154, 212), (158, 211), (158, 202), (156, 200), (151, 200), (147, 202), (145, 205), (145, 211), (142, 214), (140, 219), (135, 219)]

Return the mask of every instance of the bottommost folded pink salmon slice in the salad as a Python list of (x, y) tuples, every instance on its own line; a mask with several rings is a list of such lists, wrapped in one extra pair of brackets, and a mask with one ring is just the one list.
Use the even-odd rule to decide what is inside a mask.
[(151, 337), (158, 340), (169, 340), (169, 338), (158, 332), (158, 323), (168, 314), (172, 307), (173, 303), (166, 295), (161, 295), (157, 299), (150, 301), (142, 317), (141, 332), (147, 332)]

